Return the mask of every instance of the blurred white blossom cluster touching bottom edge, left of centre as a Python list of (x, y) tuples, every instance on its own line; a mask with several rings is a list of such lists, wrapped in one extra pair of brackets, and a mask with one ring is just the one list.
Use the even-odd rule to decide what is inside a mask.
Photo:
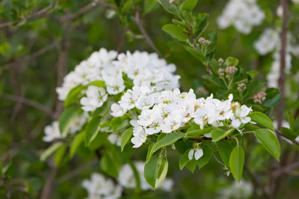
[(82, 187), (88, 193), (87, 199), (119, 199), (122, 197), (123, 188), (115, 185), (111, 179), (98, 173), (93, 173), (90, 180), (84, 180)]

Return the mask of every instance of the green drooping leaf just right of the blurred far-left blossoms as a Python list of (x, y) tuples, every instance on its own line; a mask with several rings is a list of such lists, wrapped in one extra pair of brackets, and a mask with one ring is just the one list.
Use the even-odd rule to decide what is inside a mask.
[(89, 146), (90, 143), (95, 139), (97, 134), (99, 133), (101, 126), (100, 123), (102, 121), (101, 116), (93, 117), (88, 124), (86, 125), (85, 129), (85, 146)]

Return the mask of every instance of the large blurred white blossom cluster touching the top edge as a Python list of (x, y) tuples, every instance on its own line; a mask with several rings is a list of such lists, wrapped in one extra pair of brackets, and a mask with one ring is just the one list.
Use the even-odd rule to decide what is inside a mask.
[(238, 32), (249, 34), (253, 26), (260, 25), (265, 18), (257, 0), (230, 0), (217, 18), (218, 26), (225, 29), (233, 25)]

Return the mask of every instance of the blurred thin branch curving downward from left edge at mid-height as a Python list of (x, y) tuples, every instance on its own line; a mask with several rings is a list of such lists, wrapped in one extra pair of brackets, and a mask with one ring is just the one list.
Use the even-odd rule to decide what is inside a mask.
[(0, 94), (0, 99), (11, 100), (11, 101), (23, 103), (25, 105), (35, 107), (35, 108), (47, 113), (47, 115), (49, 115), (51, 118), (54, 117), (54, 113), (50, 108), (48, 108), (48, 107), (44, 106), (43, 104), (38, 103), (36, 101), (29, 100), (29, 99), (19, 97), (19, 96), (8, 95), (8, 94)]

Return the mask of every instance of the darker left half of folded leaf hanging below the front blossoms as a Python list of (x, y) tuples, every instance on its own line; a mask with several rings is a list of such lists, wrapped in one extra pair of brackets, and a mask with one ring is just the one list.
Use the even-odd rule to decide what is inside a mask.
[(162, 164), (162, 159), (161, 154), (154, 155), (145, 165), (145, 179), (153, 189), (155, 189), (155, 183)]

